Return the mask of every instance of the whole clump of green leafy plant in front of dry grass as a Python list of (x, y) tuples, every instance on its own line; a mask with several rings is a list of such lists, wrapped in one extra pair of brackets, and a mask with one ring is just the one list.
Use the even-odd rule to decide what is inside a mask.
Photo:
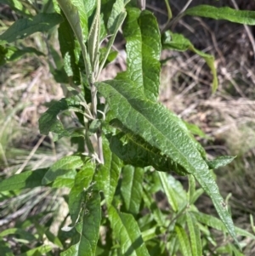
[[(37, 216), (28, 225), (0, 233), (1, 251), (14, 255), (8, 237), (15, 236), (25, 244), (20, 248), (22, 255), (242, 255), (238, 237), (255, 237), (235, 227), (213, 177), (213, 169), (234, 157), (209, 161), (193, 137), (201, 131), (158, 102), (164, 48), (199, 54), (212, 71), (212, 91), (218, 86), (213, 57), (167, 29), (172, 22), (168, 2), (168, 21), (162, 31), (155, 16), (144, 9), (144, 1), (138, 1), (139, 8), (128, 0), (4, 3), (23, 18), (0, 36), (1, 64), (25, 53), (42, 54), (15, 42), (37, 31), (50, 31), (48, 35), (53, 36), (52, 28), (59, 25), (62, 60), (49, 48), (55, 63), (50, 67), (56, 81), (68, 84), (68, 96), (42, 114), (39, 127), (42, 134), (54, 134), (55, 140), (71, 137), (77, 152), (50, 168), (1, 181), (2, 201), (35, 187), (69, 189), (69, 213), (56, 236), (38, 224), (42, 216)], [(196, 6), (184, 10), (174, 22), (183, 15), (255, 25), (255, 12), (228, 7)], [(99, 82), (101, 71), (116, 58), (112, 47), (118, 31), (126, 40), (127, 71)], [(59, 118), (66, 111), (77, 117), (68, 128)], [(188, 176), (188, 191), (171, 172)], [(196, 188), (195, 180), (201, 188)], [(219, 219), (195, 208), (204, 191)], [(166, 196), (167, 208), (159, 208), (153, 199), (159, 193)], [(52, 243), (31, 235), (26, 230), (29, 225)], [(211, 228), (224, 234), (224, 242), (218, 242)]]

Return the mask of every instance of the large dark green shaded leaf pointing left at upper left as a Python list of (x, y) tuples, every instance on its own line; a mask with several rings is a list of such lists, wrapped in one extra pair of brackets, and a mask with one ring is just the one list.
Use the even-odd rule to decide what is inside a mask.
[(35, 32), (45, 32), (58, 25), (63, 19), (59, 14), (37, 14), (33, 18), (20, 19), (0, 36), (0, 44), (13, 43)]

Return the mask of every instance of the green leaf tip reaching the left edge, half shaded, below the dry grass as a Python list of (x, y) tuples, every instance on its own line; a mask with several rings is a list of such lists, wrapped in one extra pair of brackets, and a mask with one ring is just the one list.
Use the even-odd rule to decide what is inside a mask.
[(48, 172), (48, 168), (26, 171), (14, 174), (0, 182), (0, 192), (31, 189), (42, 185), (42, 178)]

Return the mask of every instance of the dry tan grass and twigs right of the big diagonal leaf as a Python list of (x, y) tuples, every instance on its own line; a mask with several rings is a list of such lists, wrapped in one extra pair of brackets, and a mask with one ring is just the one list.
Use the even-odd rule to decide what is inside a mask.
[[(163, 12), (162, 12), (163, 13)], [(213, 140), (201, 139), (209, 157), (238, 156), (216, 173), (220, 191), (229, 198), (235, 225), (252, 231), (249, 214), (255, 213), (255, 61), (252, 43), (243, 26), (193, 20), (186, 35), (199, 48), (215, 56), (218, 91), (211, 93), (212, 76), (204, 60), (190, 53), (164, 52), (171, 57), (161, 73), (160, 100), (179, 117), (198, 125)], [(185, 28), (184, 28), (185, 27)], [(176, 29), (180, 29), (177, 27)], [(183, 32), (183, 31), (182, 31)], [(212, 213), (212, 202), (202, 196), (201, 210)], [(246, 241), (245, 255), (255, 243)]]

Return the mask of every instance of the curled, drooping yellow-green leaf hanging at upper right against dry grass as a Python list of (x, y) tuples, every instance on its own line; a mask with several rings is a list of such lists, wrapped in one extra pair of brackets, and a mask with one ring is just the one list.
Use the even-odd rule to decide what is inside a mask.
[(216, 67), (214, 65), (214, 57), (212, 55), (201, 52), (194, 47), (188, 38), (184, 37), (182, 34), (173, 33), (172, 31), (166, 31), (163, 35), (162, 48), (173, 49), (181, 52), (189, 49), (195, 54), (201, 56), (201, 58), (207, 62), (207, 65), (212, 71), (212, 92), (214, 93), (216, 91), (218, 88), (218, 77)]

